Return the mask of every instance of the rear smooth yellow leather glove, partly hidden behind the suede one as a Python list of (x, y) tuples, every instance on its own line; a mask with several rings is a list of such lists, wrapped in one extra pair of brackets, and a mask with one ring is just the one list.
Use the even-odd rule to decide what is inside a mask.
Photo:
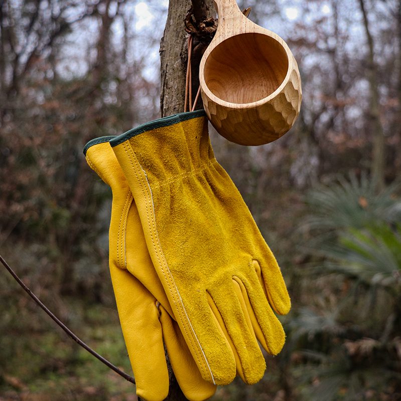
[(190, 401), (212, 396), (182, 337), (165, 291), (147, 251), (131, 190), (110, 147), (109, 138), (94, 139), (84, 149), (88, 164), (113, 192), (109, 231), (109, 266), (121, 328), (136, 381), (147, 401), (168, 395), (164, 343), (172, 369)]

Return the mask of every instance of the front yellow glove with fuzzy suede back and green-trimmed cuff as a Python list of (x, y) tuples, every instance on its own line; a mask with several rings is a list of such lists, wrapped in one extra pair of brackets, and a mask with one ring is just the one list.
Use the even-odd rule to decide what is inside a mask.
[(205, 112), (165, 117), (110, 141), (138, 208), (146, 244), (202, 376), (248, 384), (285, 341), (273, 310), (290, 298), (239, 191), (216, 161)]

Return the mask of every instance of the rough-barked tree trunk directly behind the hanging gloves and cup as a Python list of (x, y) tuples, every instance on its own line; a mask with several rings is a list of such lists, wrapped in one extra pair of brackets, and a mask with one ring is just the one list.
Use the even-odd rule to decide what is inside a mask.
[[(194, 16), (202, 16), (204, 13), (199, 10), (206, 4), (209, 6), (209, 13), (215, 13), (213, 0), (192, 1), (194, 7)], [(160, 42), (160, 115), (161, 117), (169, 116), (184, 111), (185, 100), (185, 76), (186, 65), (188, 60), (187, 41), (188, 34), (185, 32), (184, 20), (187, 11), (191, 7), (190, 0), (170, 0), (168, 6), (167, 22), (164, 34)], [(208, 17), (210, 16), (208, 13)], [(214, 14), (213, 14), (214, 15)], [(199, 17), (198, 17), (199, 18)], [(199, 21), (198, 21), (199, 22)], [(198, 71), (200, 57), (191, 58), (192, 69), (192, 102), (196, 96), (199, 85)], [(199, 101), (195, 109), (202, 109), (203, 103), (199, 96)], [(182, 393), (166, 351), (166, 360), (170, 377), (170, 386), (168, 396), (165, 401), (185, 401), (186, 398)]]

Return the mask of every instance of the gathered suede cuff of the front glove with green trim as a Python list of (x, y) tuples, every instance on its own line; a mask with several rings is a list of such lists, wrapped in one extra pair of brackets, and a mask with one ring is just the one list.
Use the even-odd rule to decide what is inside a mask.
[(151, 121), (115, 137), (110, 145), (136, 155), (152, 188), (196, 174), (216, 162), (204, 110)]

